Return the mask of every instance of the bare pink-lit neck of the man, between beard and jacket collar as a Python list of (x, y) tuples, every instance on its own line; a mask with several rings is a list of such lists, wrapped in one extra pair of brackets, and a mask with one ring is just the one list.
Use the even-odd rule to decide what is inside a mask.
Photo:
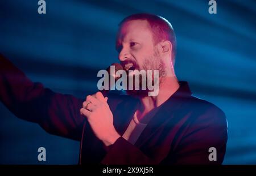
[(141, 106), (137, 110), (137, 118), (140, 122), (148, 122), (144, 119), (152, 109), (157, 108), (168, 100), (179, 88), (179, 82), (174, 76), (162, 78), (159, 84), (159, 93), (157, 96), (144, 96), (140, 97)]

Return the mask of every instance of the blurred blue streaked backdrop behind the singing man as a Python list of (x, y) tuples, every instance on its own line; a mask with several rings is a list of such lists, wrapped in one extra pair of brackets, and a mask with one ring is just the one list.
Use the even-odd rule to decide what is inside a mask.
[[(161, 15), (177, 35), (176, 75), (195, 96), (224, 110), (229, 139), (224, 164), (256, 164), (256, 2), (0, 1), (0, 52), (33, 81), (85, 97), (97, 71), (118, 62), (118, 23), (127, 15)], [(0, 85), (1, 86), (1, 85)], [(47, 134), (0, 103), (0, 164), (77, 164), (79, 142)], [(47, 161), (38, 161), (45, 147)]]

